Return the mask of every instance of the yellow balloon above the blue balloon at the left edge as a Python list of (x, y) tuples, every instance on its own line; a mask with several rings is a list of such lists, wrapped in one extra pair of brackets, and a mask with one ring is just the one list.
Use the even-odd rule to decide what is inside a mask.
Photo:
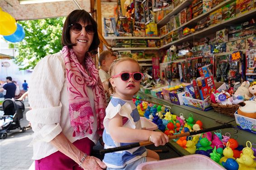
[(8, 13), (0, 10), (0, 35), (12, 35), (17, 29), (15, 19)]

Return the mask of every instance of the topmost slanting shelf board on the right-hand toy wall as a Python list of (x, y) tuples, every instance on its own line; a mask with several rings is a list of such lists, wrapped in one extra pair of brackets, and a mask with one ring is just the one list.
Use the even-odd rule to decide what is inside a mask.
[(157, 25), (164, 26), (166, 23), (170, 21), (171, 16), (178, 14), (182, 9), (188, 7), (193, 0), (185, 0), (183, 3), (178, 5), (175, 9), (173, 9), (169, 14), (167, 14), (164, 18), (157, 22)]

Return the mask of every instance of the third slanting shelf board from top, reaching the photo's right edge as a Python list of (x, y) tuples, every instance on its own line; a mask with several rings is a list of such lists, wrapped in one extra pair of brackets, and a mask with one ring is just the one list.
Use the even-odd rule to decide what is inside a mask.
[(200, 30), (198, 32), (194, 32), (186, 37), (180, 38), (179, 40), (170, 42), (169, 44), (161, 46), (159, 49), (166, 49), (176, 43), (182, 43), (184, 41), (191, 41), (191, 40), (207, 37), (208, 35), (213, 34), (218, 30), (221, 30), (223, 28), (226, 28), (226, 27), (236, 24), (236, 23), (241, 23), (242, 21), (245, 21), (246, 18), (254, 17), (255, 15), (256, 15), (256, 9), (252, 9), (251, 11), (249, 11), (247, 13), (237, 15), (236, 17), (230, 18), (226, 21), (222, 20), (220, 23), (212, 25), (212, 26), (205, 28), (203, 30)]

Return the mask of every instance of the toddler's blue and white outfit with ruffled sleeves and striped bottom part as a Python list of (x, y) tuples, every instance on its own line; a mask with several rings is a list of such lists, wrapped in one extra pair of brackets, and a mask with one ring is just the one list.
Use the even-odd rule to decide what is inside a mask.
[[(105, 127), (103, 132), (103, 141), (105, 143), (105, 149), (132, 144), (115, 142), (111, 138), (108, 132), (109, 119), (112, 119), (116, 114), (123, 116), (123, 127), (131, 129), (142, 129), (140, 116), (137, 107), (134, 105), (133, 101), (126, 101), (117, 97), (112, 97), (106, 109), (106, 117), (104, 118), (103, 122)], [(136, 147), (125, 151), (106, 153), (103, 162), (109, 168), (123, 168), (125, 165), (132, 163), (133, 161), (137, 161), (138, 159), (144, 156), (147, 156), (146, 148)]]

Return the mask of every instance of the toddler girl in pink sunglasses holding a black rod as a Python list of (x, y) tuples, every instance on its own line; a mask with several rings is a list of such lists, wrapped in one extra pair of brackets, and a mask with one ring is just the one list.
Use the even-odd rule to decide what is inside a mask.
[[(139, 71), (140, 66), (137, 61), (128, 57), (114, 60), (109, 68), (111, 78), (106, 85), (109, 87), (109, 94), (114, 96), (109, 102), (104, 118), (104, 148), (148, 140), (157, 147), (169, 141), (164, 133), (142, 130), (137, 107), (132, 101), (142, 79), (142, 73)], [(136, 147), (106, 153), (103, 162), (108, 166), (108, 170), (135, 170), (142, 162), (156, 160), (159, 160), (156, 152), (145, 147)]]

